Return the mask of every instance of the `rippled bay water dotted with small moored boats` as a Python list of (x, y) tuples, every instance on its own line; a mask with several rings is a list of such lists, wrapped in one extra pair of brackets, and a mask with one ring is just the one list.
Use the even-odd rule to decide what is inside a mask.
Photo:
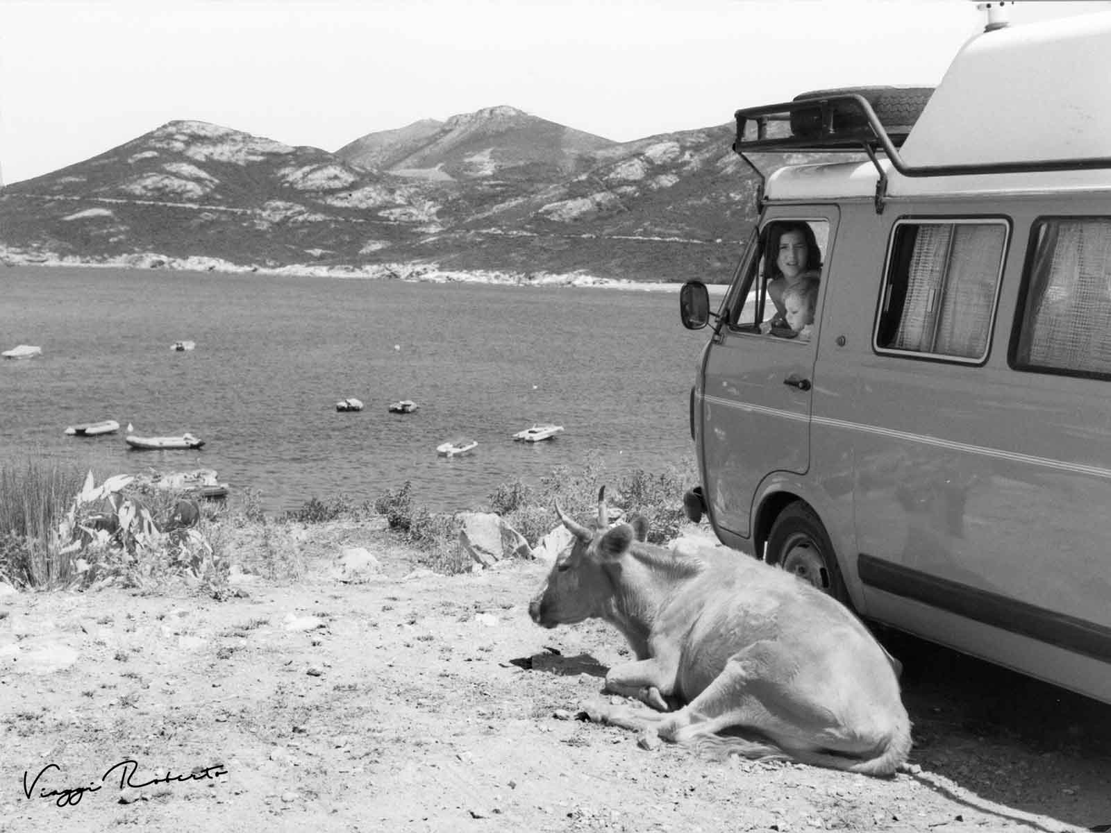
[[(486, 504), (502, 483), (599, 461), (692, 470), (688, 401), (707, 332), (673, 291), (408, 283), (60, 267), (0, 267), (0, 463), (118, 473), (214, 469), (263, 509), (374, 500), (411, 481), (433, 511)], [(174, 352), (176, 341), (196, 349)], [(361, 412), (340, 413), (347, 397)], [(388, 411), (411, 399), (411, 414)], [(120, 432), (67, 436), (117, 420)], [(134, 451), (189, 431), (199, 451)], [(540, 443), (512, 434), (564, 431)], [(436, 446), (469, 435), (478, 448)]]

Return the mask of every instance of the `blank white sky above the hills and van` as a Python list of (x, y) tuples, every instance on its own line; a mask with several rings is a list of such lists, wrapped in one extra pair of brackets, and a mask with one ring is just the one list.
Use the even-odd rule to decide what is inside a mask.
[(173, 119), (334, 151), (511, 104), (628, 141), (804, 90), (937, 84), (983, 21), (970, 0), (0, 0), (0, 172)]

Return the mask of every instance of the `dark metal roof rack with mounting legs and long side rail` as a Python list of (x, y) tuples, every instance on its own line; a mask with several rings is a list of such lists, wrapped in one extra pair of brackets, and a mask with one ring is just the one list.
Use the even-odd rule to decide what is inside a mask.
[[(903, 177), (953, 177), (977, 173), (1028, 173), (1037, 171), (1075, 171), (1111, 168), (1111, 158), (1085, 157), (1042, 159), (1021, 162), (982, 162), (973, 164), (911, 165), (903, 161), (899, 148), (911, 126), (889, 126), (875, 114), (868, 100), (858, 93), (842, 92), (824, 97), (800, 98), (780, 104), (749, 107), (738, 110), (737, 140), (733, 150), (760, 175), (758, 201), (763, 203), (763, 173), (745, 153), (765, 152), (855, 152), (867, 153), (879, 171), (875, 185), (877, 212), (883, 210), (887, 194), (887, 171), (878, 153), (883, 153)], [(773, 124), (787, 122), (785, 134), (771, 136)], [(754, 138), (747, 133), (755, 132)]]

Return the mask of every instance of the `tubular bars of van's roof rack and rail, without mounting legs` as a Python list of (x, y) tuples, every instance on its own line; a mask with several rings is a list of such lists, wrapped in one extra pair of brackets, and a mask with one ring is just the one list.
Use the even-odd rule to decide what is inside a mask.
[[(832, 104), (849, 104), (858, 110), (854, 116), (863, 117), (863, 123), (851, 129), (834, 130), (832, 124)], [(768, 121), (783, 121), (792, 114), (808, 113), (819, 109), (820, 129), (818, 136), (787, 136), (768, 138)], [(1074, 159), (1045, 159), (1027, 162), (980, 162), (971, 164), (945, 165), (910, 165), (899, 154), (898, 145), (902, 139), (892, 137), (884, 129), (872, 106), (857, 93), (840, 93), (825, 98), (802, 99), (780, 104), (743, 108), (735, 112), (737, 139), (733, 150), (742, 151), (792, 151), (809, 150), (818, 152), (855, 151), (872, 157), (875, 150), (882, 149), (891, 160), (892, 167), (903, 177), (957, 177), (973, 173), (1031, 173), (1038, 171), (1075, 171), (1111, 168), (1111, 157), (1082, 157)], [(747, 122), (755, 121), (757, 139), (745, 140)], [(904, 138), (904, 137), (903, 137)], [(898, 144), (897, 144), (898, 142)], [(873, 160), (874, 162), (874, 160)]]

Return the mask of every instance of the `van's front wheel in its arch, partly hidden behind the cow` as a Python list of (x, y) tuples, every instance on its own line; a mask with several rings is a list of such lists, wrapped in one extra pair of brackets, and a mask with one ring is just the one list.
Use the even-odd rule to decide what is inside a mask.
[(837, 553), (818, 514), (802, 501), (789, 503), (768, 533), (764, 561), (794, 573), (852, 608), (837, 563)]

